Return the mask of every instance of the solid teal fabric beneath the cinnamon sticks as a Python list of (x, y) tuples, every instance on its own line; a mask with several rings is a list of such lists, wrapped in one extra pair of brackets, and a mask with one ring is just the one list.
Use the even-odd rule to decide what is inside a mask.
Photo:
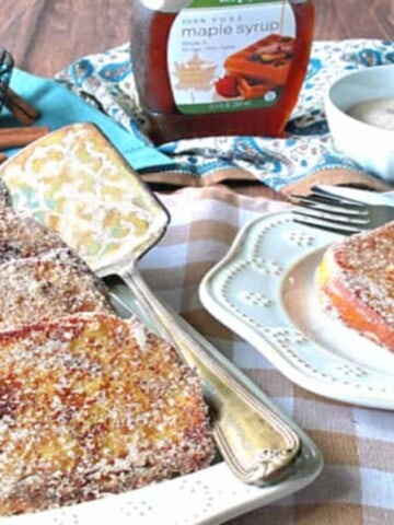
[[(35, 77), (14, 69), (10, 86), (40, 112), (35, 126), (49, 126), (55, 130), (73, 122), (93, 122), (109, 139), (126, 161), (139, 172), (170, 168), (174, 161), (161, 153), (141, 136), (136, 137), (104, 113), (88, 104), (56, 80)], [(3, 126), (18, 125), (4, 112)], [(12, 155), (18, 150), (9, 150)]]

